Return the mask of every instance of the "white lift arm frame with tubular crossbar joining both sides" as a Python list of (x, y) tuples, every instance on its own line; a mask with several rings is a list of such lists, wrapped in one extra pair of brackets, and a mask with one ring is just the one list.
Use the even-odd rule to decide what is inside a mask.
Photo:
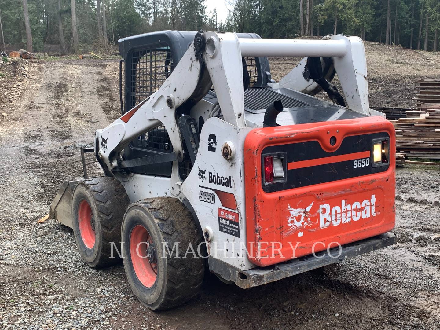
[[(356, 53), (356, 57), (354, 54)], [(139, 103), (104, 129), (96, 131), (95, 152), (106, 172), (121, 167), (121, 152), (132, 139), (158, 125), (164, 125), (175, 154), (183, 159), (178, 114), (189, 114), (213, 85), (224, 121), (246, 127), (242, 56), (332, 57), (351, 110), (370, 115), (367, 65), (362, 40), (342, 35), (326, 40), (238, 39), (234, 33), (197, 33), (175, 70), (157, 92)], [(293, 69), (285, 87), (301, 89), (303, 81)], [(286, 77), (287, 77), (286, 76)], [(284, 79), (284, 78), (283, 78)], [(298, 87), (299, 86), (299, 87)], [(302, 86), (304, 87), (304, 86)], [(173, 160), (173, 159), (172, 159)]]

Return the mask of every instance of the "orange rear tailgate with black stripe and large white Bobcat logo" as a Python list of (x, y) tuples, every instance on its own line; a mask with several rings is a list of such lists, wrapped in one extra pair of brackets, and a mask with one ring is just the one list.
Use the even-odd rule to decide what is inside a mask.
[[(249, 132), (244, 145), (249, 260), (265, 267), (390, 231), (394, 136), (392, 124), (380, 116)], [(380, 164), (373, 157), (376, 141), (389, 147)], [(283, 168), (270, 182), (264, 177), (266, 157)]]

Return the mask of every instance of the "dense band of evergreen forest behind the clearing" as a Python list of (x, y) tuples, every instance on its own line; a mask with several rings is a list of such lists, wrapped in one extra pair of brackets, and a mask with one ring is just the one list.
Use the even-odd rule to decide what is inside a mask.
[(344, 33), (439, 48), (440, 0), (227, 1), (230, 14), (220, 22), (215, 11), (206, 11), (205, 0), (0, 0), (0, 47), (43, 51), (44, 44), (59, 44), (62, 53), (77, 53), (80, 45), (82, 51), (106, 51), (106, 37), (116, 44), (150, 31), (220, 29), (266, 38)]

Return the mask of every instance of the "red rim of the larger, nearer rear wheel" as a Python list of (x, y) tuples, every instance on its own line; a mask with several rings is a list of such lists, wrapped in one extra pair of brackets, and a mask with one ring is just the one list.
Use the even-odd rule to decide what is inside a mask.
[[(130, 255), (132, 264), (139, 281), (150, 288), (158, 277), (158, 264), (155, 257), (147, 257), (147, 249), (153, 244), (153, 239), (145, 227), (138, 224), (130, 235)], [(154, 262), (150, 262), (153, 260)]]

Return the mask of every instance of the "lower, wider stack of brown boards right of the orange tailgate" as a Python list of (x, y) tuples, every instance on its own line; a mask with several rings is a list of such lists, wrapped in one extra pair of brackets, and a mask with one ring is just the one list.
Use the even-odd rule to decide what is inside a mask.
[(440, 110), (407, 111), (407, 117), (391, 122), (398, 153), (406, 158), (440, 159)]

